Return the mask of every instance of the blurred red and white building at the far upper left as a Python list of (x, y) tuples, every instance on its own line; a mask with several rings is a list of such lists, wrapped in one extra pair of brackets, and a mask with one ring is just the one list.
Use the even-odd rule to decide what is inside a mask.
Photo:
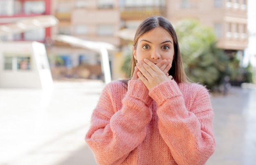
[[(51, 0), (0, 0), (0, 25), (17, 22), (34, 16), (50, 15)], [(17, 25), (26, 29), (26, 25)], [(4, 29), (8, 30), (8, 29)], [(14, 33), (1, 36), (3, 41), (36, 40), (47, 42), (51, 38), (51, 28), (38, 28), (24, 33)]]

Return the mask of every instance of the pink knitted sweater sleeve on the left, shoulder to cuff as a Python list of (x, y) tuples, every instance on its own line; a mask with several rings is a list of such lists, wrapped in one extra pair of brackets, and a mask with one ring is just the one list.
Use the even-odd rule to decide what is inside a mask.
[(148, 89), (142, 82), (130, 80), (125, 93), (120, 83), (110, 83), (92, 113), (85, 141), (98, 164), (122, 163), (146, 136), (146, 125), (152, 118), (148, 105), (153, 101)]

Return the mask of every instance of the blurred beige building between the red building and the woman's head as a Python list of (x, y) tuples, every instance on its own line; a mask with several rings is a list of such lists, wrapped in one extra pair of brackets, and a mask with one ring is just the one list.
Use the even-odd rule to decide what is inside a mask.
[[(53, 0), (53, 14), (59, 20), (56, 35), (120, 45), (119, 0)], [(110, 54), (112, 62), (113, 53)], [(54, 41), (49, 49), (53, 76), (101, 78), (99, 53)]]

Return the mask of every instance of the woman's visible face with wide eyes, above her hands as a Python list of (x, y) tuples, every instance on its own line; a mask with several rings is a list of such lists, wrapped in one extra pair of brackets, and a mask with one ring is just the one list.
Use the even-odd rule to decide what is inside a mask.
[(154, 64), (166, 59), (171, 60), (174, 57), (173, 38), (162, 27), (148, 31), (141, 36), (137, 43), (137, 49), (132, 48), (134, 58), (139, 61), (144, 58)]

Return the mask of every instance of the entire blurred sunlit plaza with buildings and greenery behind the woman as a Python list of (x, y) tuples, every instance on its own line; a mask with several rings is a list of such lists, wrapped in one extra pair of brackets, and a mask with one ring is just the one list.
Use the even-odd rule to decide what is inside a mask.
[(208, 165), (256, 162), (255, 0), (0, 0), (0, 165), (94, 165), (83, 140), (106, 83), (130, 76), (142, 20), (164, 16), (207, 86)]

